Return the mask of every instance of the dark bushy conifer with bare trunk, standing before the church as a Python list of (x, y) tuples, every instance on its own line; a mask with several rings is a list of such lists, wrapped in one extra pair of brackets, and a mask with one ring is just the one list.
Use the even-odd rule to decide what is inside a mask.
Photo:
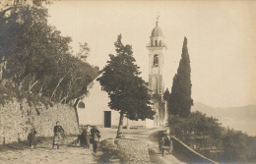
[(108, 93), (108, 106), (120, 112), (117, 136), (120, 137), (123, 118), (131, 120), (153, 119), (155, 112), (151, 107), (149, 89), (140, 77), (139, 67), (135, 65), (131, 45), (123, 45), (121, 34), (114, 43), (116, 56), (110, 54), (110, 60), (97, 79)]

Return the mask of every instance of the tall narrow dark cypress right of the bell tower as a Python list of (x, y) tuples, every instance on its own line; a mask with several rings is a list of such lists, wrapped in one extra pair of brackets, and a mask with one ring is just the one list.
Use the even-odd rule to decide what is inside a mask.
[(190, 114), (193, 99), (191, 98), (190, 60), (187, 38), (184, 37), (181, 59), (177, 74), (173, 78), (171, 93), (168, 100), (169, 114), (186, 118)]

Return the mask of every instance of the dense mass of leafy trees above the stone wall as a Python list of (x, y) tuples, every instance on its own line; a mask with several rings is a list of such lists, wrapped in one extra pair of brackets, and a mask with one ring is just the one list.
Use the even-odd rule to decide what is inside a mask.
[(98, 70), (71, 54), (71, 38), (61, 36), (47, 18), (40, 3), (0, 12), (0, 82), (71, 104), (87, 92)]

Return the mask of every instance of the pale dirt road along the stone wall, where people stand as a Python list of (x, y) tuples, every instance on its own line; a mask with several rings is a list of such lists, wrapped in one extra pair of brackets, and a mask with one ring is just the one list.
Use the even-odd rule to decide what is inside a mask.
[[(101, 129), (101, 139), (115, 137), (116, 130)], [(60, 149), (52, 149), (52, 140), (48, 139), (31, 150), (26, 144), (23, 147), (7, 146), (0, 152), (0, 164), (96, 164), (102, 152), (93, 155), (91, 148), (82, 148), (71, 142), (76, 137), (66, 137)]]

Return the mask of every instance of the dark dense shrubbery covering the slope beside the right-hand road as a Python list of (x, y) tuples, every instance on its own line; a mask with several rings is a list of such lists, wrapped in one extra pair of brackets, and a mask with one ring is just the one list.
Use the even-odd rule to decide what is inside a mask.
[(255, 162), (256, 137), (221, 127), (218, 119), (200, 112), (188, 118), (169, 117), (171, 135), (199, 153), (224, 162)]

